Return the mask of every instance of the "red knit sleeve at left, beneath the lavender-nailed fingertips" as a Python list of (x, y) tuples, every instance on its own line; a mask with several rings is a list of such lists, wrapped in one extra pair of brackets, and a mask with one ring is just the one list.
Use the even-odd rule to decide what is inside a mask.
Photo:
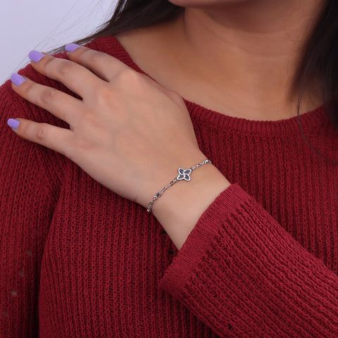
[[(48, 82), (31, 65), (19, 73)], [(65, 157), (18, 137), (7, 120), (66, 124), (21, 98), (10, 81), (0, 87), (0, 111), (0, 337), (38, 337), (39, 271)]]

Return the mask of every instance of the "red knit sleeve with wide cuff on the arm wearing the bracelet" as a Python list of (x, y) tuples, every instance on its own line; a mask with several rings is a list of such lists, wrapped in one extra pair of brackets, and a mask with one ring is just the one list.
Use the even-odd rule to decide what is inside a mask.
[(160, 287), (220, 337), (338, 337), (338, 276), (238, 183), (204, 211)]

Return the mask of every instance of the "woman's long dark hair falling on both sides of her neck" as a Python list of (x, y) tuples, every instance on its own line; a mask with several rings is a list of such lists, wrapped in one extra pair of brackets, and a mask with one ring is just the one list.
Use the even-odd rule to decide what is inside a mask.
[[(135, 28), (172, 20), (182, 11), (184, 7), (171, 4), (167, 0), (118, 0), (113, 17), (101, 25), (94, 34), (75, 43), (84, 44), (99, 37), (117, 35)], [(294, 88), (297, 87), (300, 92), (297, 115), (305, 139), (299, 119), (299, 109), (301, 96), (314, 78), (319, 78), (322, 83), (322, 96), (327, 115), (334, 129), (338, 130), (338, 1), (327, 0), (321, 11), (317, 22), (313, 25), (313, 31), (308, 35), (293, 82)], [(307, 139), (306, 142), (313, 151), (323, 156), (309, 144)], [(330, 158), (327, 160), (338, 164)]]

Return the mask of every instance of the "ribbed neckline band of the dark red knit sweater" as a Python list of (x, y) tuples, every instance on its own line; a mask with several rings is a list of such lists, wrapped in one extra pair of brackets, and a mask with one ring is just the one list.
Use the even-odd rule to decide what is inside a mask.
[[(109, 35), (99, 38), (106, 47), (106, 52), (111, 55), (118, 56), (125, 64), (137, 70), (137, 72), (147, 75), (152, 80), (149, 74), (139, 68), (137, 63), (134, 62), (130, 54), (125, 50), (122, 44), (116, 39), (115, 36)], [(156, 81), (156, 80), (154, 80)], [(237, 118), (230, 115), (225, 115), (218, 111), (200, 106), (195, 102), (189, 101), (182, 97), (187, 109), (191, 115), (192, 120), (198, 121), (199, 124), (203, 124), (206, 127), (212, 129), (221, 130), (236, 130), (237, 132), (244, 132), (246, 134), (260, 134), (262, 136), (272, 135), (287, 135), (287, 134), (301, 134), (299, 127), (299, 120), (303, 132), (313, 130), (315, 127), (320, 127), (323, 123), (329, 120), (326, 113), (325, 105), (308, 111), (299, 116), (282, 120), (248, 120), (246, 118)]]

